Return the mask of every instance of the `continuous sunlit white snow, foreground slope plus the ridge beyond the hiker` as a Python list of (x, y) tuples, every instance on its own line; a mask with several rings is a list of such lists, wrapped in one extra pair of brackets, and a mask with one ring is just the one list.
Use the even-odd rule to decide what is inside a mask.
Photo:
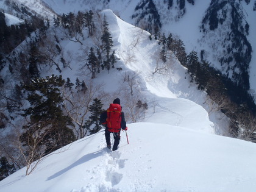
[(123, 71), (102, 73), (96, 81), (115, 91), (119, 84), (113, 88), (113, 80), (135, 71), (154, 110), (144, 122), (127, 124), (129, 144), (121, 132), (117, 151), (105, 148), (101, 130), (52, 153), (29, 176), (26, 168), (13, 173), (0, 182), (0, 191), (255, 191), (256, 144), (215, 135), (208, 113), (193, 102), (205, 95), (184, 79), (186, 69), (174, 60), (169, 76), (152, 75), (157, 41), (111, 10), (101, 15), (107, 16)]

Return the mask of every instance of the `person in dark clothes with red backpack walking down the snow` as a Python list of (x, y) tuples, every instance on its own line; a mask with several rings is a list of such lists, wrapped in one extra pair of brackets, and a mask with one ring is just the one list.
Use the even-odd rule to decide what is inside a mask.
[(110, 104), (110, 107), (105, 112), (101, 113), (99, 121), (105, 125), (107, 148), (111, 149), (110, 133), (113, 133), (115, 141), (112, 151), (116, 151), (120, 141), (121, 129), (127, 130), (126, 119), (124, 118), (124, 112), (122, 112), (119, 98), (116, 98), (113, 104)]

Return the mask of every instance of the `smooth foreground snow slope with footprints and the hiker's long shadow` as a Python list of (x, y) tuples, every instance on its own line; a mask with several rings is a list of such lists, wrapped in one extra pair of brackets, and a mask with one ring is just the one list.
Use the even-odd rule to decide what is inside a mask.
[(118, 151), (105, 149), (101, 130), (49, 156), (29, 176), (24, 168), (15, 172), (0, 191), (255, 190), (254, 143), (159, 123), (128, 127), (130, 144), (122, 132)]

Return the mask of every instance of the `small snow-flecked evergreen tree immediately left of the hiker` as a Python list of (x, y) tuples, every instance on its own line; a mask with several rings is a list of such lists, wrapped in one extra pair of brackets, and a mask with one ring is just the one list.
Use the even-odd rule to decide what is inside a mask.
[[(104, 112), (104, 110), (102, 110), (102, 105), (103, 104), (101, 104), (101, 100), (96, 98), (93, 99), (93, 104), (91, 104), (89, 107), (91, 115), (85, 122), (85, 128), (90, 129), (90, 134), (97, 133), (102, 129), (101, 123), (99, 123), (101, 113)], [(91, 127), (93, 124), (94, 127)]]

